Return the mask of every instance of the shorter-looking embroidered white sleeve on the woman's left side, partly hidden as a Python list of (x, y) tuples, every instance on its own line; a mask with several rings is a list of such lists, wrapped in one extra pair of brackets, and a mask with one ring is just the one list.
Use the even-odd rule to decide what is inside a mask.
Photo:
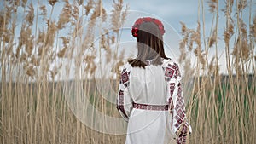
[(125, 121), (129, 120), (132, 107), (131, 95), (129, 93), (130, 73), (131, 67), (125, 65), (121, 72), (117, 97), (117, 109), (119, 110), (120, 115), (125, 119)]

